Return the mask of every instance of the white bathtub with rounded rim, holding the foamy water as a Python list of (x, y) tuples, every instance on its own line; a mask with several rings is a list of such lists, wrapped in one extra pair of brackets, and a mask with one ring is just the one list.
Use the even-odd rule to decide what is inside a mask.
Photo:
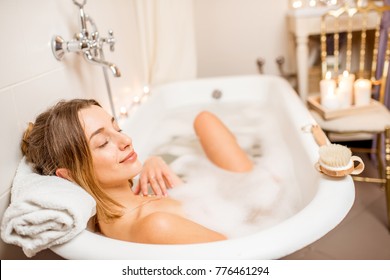
[[(220, 99), (211, 97), (218, 89)], [(337, 226), (350, 210), (355, 190), (350, 176), (332, 179), (314, 164), (318, 146), (302, 127), (315, 123), (291, 86), (274, 76), (238, 76), (172, 83), (152, 89), (147, 102), (122, 124), (140, 157), (150, 151), (143, 143), (153, 135), (160, 117), (171, 109), (196, 103), (262, 102), (277, 112), (294, 159), (303, 194), (301, 210), (255, 234), (195, 245), (148, 245), (123, 242), (83, 231), (52, 250), (66, 259), (278, 259), (318, 240)], [(134, 134), (137, 132), (137, 134)]]

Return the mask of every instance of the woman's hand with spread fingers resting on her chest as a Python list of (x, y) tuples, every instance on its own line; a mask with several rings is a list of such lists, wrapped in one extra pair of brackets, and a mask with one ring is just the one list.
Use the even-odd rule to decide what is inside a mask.
[(152, 156), (144, 163), (134, 193), (147, 195), (148, 185), (150, 185), (156, 195), (168, 196), (167, 190), (181, 182), (180, 178), (173, 173), (162, 158)]

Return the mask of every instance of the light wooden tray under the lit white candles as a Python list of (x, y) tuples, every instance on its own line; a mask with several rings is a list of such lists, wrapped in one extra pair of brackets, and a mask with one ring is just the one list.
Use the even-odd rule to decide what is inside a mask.
[(371, 102), (368, 105), (351, 106), (349, 108), (330, 110), (321, 105), (320, 98), (320, 95), (310, 96), (307, 99), (307, 103), (309, 108), (319, 113), (325, 120), (348, 116), (351, 114), (369, 112), (376, 110), (381, 104), (377, 100), (371, 99)]

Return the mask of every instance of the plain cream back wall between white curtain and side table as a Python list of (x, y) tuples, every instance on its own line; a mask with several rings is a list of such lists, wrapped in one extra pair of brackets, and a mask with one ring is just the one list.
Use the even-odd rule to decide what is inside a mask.
[(265, 74), (279, 75), (278, 56), (289, 70), (287, 0), (194, 0), (194, 6), (199, 77), (257, 74), (259, 57)]

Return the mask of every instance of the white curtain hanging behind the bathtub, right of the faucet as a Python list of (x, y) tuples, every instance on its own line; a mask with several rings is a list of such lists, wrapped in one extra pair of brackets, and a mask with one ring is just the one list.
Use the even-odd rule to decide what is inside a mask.
[(193, 0), (135, 0), (145, 83), (196, 77)]

